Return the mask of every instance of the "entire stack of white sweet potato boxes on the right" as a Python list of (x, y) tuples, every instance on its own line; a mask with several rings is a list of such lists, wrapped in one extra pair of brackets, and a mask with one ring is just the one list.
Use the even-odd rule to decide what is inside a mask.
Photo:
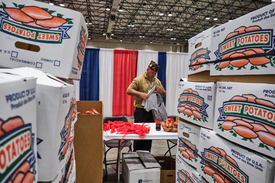
[(189, 39), (190, 65), (216, 63), (178, 81), (176, 182), (275, 181), (274, 9)]

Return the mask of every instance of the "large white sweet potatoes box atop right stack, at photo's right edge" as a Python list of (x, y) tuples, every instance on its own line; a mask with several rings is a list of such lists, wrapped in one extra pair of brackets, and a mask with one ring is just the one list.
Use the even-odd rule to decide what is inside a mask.
[[(211, 31), (212, 60), (274, 51), (275, 4), (272, 3)], [(275, 74), (275, 56), (243, 58), (211, 64), (210, 75)]]

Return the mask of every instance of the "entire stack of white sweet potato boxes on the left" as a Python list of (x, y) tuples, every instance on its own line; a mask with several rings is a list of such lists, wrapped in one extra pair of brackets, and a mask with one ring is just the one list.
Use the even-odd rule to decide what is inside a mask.
[(0, 182), (75, 182), (75, 89), (87, 26), (38, 1), (0, 9)]

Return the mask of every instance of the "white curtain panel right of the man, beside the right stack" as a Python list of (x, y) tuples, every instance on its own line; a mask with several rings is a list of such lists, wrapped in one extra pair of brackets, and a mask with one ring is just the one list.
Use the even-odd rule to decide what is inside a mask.
[(166, 111), (168, 116), (177, 115), (177, 84), (180, 78), (187, 78), (188, 65), (188, 53), (166, 53)]

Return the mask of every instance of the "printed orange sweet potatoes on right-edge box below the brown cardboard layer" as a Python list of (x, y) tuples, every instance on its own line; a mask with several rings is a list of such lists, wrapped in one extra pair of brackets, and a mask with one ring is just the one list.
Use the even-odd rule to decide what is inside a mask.
[[(264, 108), (275, 110), (275, 105), (273, 102), (264, 99), (258, 99), (252, 94), (243, 94), (242, 96), (234, 96), (230, 101), (245, 101), (254, 104), (260, 104)], [(245, 107), (244, 113), (253, 113), (255, 115), (260, 115), (266, 117), (269, 120), (274, 119), (274, 114), (265, 110), (264, 108), (256, 107)], [(247, 118), (240, 118), (236, 116), (227, 116), (223, 122), (218, 124), (220, 130), (230, 130), (233, 136), (243, 137), (243, 140), (250, 140), (259, 138), (263, 144), (267, 144), (275, 148), (275, 128), (272, 125), (264, 124), (261, 121), (254, 121)], [(259, 147), (265, 147), (260, 144)], [(266, 147), (268, 148), (268, 147)]]

